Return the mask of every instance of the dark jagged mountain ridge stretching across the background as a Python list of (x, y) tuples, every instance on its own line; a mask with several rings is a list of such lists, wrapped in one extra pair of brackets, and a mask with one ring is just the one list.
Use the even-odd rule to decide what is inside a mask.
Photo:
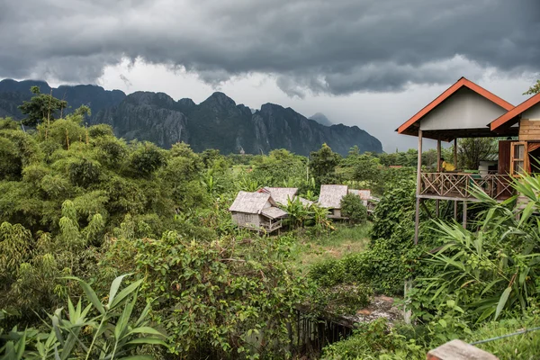
[(163, 148), (184, 141), (198, 152), (218, 148), (224, 154), (258, 154), (286, 148), (309, 155), (327, 143), (342, 155), (355, 145), (360, 151), (383, 152), (381, 142), (357, 126), (326, 126), (276, 103), (264, 103), (253, 111), (221, 92), (194, 103), (190, 98), (175, 101), (166, 93), (124, 94), (98, 85), (51, 88), (44, 81), (6, 79), (0, 81), (0, 117), (23, 119), (17, 106), (30, 100), (31, 85), (66, 100), (70, 105), (67, 112), (82, 104), (90, 106), (89, 125), (106, 123), (121, 138), (148, 140)]

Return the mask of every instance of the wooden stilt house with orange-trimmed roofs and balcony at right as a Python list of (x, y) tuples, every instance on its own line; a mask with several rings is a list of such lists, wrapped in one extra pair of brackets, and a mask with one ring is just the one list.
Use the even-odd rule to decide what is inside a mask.
[[(419, 240), (419, 214), (428, 211), (425, 202), (454, 202), (454, 216), (462, 206), (467, 221), (467, 203), (475, 202), (471, 189), (478, 186), (491, 198), (504, 201), (514, 193), (512, 177), (523, 172), (540, 173), (540, 166), (529, 157), (540, 158), (540, 94), (514, 106), (466, 78), (460, 78), (443, 94), (405, 121), (397, 131), (419, 139), (417, 169), (415, 243)], [(457, 166), (457, 139), (500, 138), (497, 165), (490, 169), (444, 171), (440, 161), (441, 142), (454, 142), (454, 158), (445, 159)], [(437, 168), (422, 169), (424, 139), (437, 140)]]

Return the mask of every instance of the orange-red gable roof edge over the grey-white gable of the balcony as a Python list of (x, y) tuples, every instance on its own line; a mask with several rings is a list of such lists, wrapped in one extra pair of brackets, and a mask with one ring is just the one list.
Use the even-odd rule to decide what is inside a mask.
[(484, 89), (482, 86), (476, 85), (471, 80), (468, 80), (462, 77), (459, 80), (457, 80), (457, 82), (454, 85), (448, 87), (443, 94), (438, 95), (435, 100), (433, 100), (431, 103), (428, 103), (426, 107), (424, 107), (422, 110), (417, 112), (408, 121), (405, 121), (396, 131), (398, 131), (400, 134), (418, 135), (418, 126), (415, 128), (413, 127), (413, 125), (416, 122), (420, 121), (424, 116), (426, 116), (433, 109), (435, 109), (440, 103), (444, 102), (452, 94), (455, 94), (455, 92), (461, 89), (463, 86), (468, 87), (469, 89), (473, 90), (473, 92), (475, 92), (476, 94), (482, 95), (486, 99), (490, 100), (492, 103), (498, 104), (500, 107), (502, 107), (503, 109), (507, 111), (514, 108), (514, 105), (501, 99), (496, 94), (493, 94), (489, 92), (488, 90)]

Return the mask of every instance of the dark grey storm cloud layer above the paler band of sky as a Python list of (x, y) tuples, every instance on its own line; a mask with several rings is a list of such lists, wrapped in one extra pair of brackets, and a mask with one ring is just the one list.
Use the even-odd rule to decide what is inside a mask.
[(22, 0), (0, 3), (0, 77), (94, 81), (121, 58), (291, 95), (400, 91), (540, 69), (538, 0)]

